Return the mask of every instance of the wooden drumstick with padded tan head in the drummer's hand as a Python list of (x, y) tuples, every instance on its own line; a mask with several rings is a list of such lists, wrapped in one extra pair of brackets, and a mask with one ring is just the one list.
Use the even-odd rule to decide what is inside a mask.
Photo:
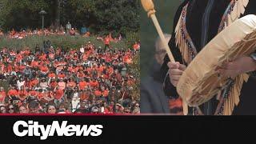
[[(168, 57), (170, 58), (170, 62), (175, 62), (173, 54), (171, 54), (170, 47), (168, 46), (168, 43), (166, 42), (166, 38), (164, 34), (162, 33), (162, 29), (158, 23), (158, 19), (155, 16), (155, 10), (154, 10), (154, 3), (152, 0), (141, 0), (142, 6), (144, 10), (146, 10), (148, 17), (150, 17), (154, 23), (155, 28), (158, 31), (158, 34), (160, 36), (160, 39), (162, 41), (162, 44), (164, 48), (166, 49), (166, 53)], [(182, 106), (183, 106), (183, 114), (188, 114), (188, 106), (186, 104), (185, 100), (182, 100)]]

